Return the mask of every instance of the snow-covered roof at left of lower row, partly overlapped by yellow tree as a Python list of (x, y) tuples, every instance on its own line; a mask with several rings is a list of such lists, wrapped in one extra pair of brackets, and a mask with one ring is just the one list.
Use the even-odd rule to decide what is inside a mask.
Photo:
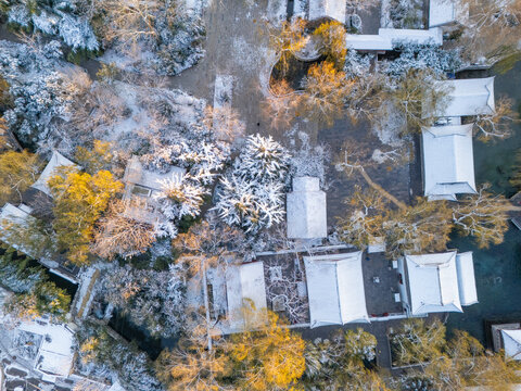
[(266, 285), (263, 262), (229, 266), (226, 269), (228, 319), (232, 328), (244, 325), (244, 305), (251, 302), (257, 311), (266, 310)]

